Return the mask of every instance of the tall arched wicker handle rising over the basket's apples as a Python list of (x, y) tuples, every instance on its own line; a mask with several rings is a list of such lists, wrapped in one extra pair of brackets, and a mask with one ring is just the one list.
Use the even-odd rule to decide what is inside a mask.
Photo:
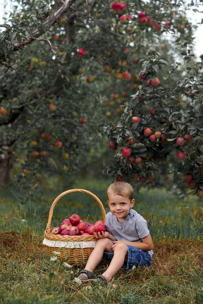
[(48, 222), (47, 222), (47, 226), (46, 226), (46, 230), (51, 229), (51, 219), (52, 219), (52, 215), (53, 215), (53, 211), (54, 211), (54, 207), (56, 205), (56, 203), (60, 200), (60, 198), (62, 198), (64, 195), (72, 193), (72, 192), (82, 192), (82, 193), (86, 193), (89, 194), (90, 196), (92, 196), (98, 203), (100, 209), (101, 209), (101, 213), (103, 216), (103, 220), (105, 222), (106, 220), (106, 212), (104, 209), (103, 204), (101, 203), (101, 201), (99, 200), (99, 198), (97, 198), (97, 196), (95, 196), (93, 193), (91, 193), (90, 191), (87, 191), (85, 189), (71, 189), (71, 190), (67, 190), (63, 193), (61, 193), (59, 196), (57, 196), (57, 198), (54, 200), (53, 204), (51, 205), (50, 211), (49, 211), (49, 217), (48, 217)]

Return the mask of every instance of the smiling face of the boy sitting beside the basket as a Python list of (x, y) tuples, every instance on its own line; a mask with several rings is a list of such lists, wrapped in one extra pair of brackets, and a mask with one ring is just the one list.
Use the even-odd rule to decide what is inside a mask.
[(108, 198), (108, 205), (111, 213), (117, 217), (118, 221), (123, 221), (127, 217), (130, 208), (133, 207), (134, 199), (130, 201), (129, 198), (116, 194), (111, 194)]

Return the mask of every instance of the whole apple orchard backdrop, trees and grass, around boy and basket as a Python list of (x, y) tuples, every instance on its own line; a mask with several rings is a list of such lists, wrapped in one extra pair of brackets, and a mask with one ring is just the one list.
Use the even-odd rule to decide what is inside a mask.
[[(193, 53), (190, 10), (202, 11), (202, 1), (10, 2), (0, 33), (3, 302), (80, 295), (89, 303), (95, 293), (97, 302), (203, 302), (203, 56)], [(157, 248), (154, 268), (142, 283), (136, 271), (81, 293), (79, 269), (66, 273), (41, 246), (48, 211), (74, 187), (107, 208), (114, 180), (134, 187)], [(98, 219), (92, 204), (62, 200), (54, 224), (71, 212)]]

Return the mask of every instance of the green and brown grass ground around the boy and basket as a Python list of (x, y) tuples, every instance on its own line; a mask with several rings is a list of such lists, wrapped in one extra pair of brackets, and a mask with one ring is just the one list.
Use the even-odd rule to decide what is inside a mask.
[[(108, 212), (110, 183), (80, 180), (73, 188), (95, 194)], [(181, 201), (159, 189), (134, 193), (133, 209), (147, 219), (154, 242), (152, 267), (119, 271), (108, 286), (78, 285), (75, 278), (83, 265), (67, 268), (58, 258), (50, 260), (42, 245), (51, 204), (67, 189), (49, 182), (40, 199), (23, 205), (9, 192), (1, 194), (0, 303), (203, 303), (202, 201), (193, 196)], [(52, 226), (73, 213), (92, 222), (102, 219), (92, 197), (73, 193), (56, 204)], [(107, 267), (102, 261), (95, 274)]]

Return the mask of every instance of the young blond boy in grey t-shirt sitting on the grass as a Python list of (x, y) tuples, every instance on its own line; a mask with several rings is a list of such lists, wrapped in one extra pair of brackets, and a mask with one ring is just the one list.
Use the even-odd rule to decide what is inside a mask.
[(95, 279), (93, 271), (104, 256), (111, 260), (106, 272), (97, 282), (110, 281), (119, 269), (130, 270), (133, 265), (150, 266), (153, 255), (152, 239), (147, 221), (135, 210), (133, 188), (127, 182), (117, 181), (107, 189), (110, 212), (106, 215), (107, 232), (94, 233), (98, 239), (86, 267), (79, 274), (81, 281)]

